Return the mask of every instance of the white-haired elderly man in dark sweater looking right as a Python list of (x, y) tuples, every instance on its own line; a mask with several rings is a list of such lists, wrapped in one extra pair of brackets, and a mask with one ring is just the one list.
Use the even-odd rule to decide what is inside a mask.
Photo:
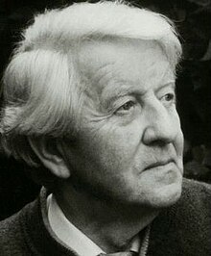
[(123, 3), (35, 17), (4, 75), (1, 142), (44, 186), (1, 222), (1, 255), (210, 255), (211, 189), (182, 183), (180, 54), (167, 18)]

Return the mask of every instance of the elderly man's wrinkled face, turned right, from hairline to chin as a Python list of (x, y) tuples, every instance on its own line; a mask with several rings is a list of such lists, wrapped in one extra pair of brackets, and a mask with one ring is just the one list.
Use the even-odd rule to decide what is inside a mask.
[(86, 88), (80, 138), (69, 149), (73, 181), (102, 199), (155, 208), (174, 203), (183, 136), (174, 72), (161, 48), (92, 41), (79, 58)]

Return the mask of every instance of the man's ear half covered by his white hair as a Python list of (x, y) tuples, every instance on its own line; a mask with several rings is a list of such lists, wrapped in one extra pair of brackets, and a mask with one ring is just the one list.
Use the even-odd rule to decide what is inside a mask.
[[(59, 178), (69, 178), (70, 170), (59, 153), (57, 141), (49, 141), (44, 138), (28, 138), (35, 155), (43, 166), (47, 167), (54, 175)], [(54, 139), (52, 139), (54, 140)]]

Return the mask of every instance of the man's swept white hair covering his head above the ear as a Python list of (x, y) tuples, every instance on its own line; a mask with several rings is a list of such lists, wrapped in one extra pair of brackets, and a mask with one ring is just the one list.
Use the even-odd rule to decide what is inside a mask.
[(27, 137), (71, 138), (79, 129), (84, 82), (77, 45), (87, 39), (154, 40), (176, 68), (181, 46), (165, 16), (123, 2), (46, 11), (23, 33), (8, 65), (0, 132), (9, 154), (35, 164)]

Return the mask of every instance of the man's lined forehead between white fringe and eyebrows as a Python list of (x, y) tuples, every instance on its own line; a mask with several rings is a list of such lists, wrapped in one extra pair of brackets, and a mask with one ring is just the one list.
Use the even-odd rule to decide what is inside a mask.
[(157, 89), (175, 80), (166, 55), (155, 41), (115, 39), (87, 41), (79, 52), (80, 69), (91, 90), (115, 86), (134, 90)]

